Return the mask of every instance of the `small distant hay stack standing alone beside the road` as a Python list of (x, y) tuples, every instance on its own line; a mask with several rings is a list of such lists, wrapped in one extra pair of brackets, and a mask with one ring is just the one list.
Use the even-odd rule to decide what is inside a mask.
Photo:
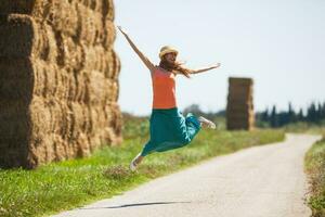
[(229, 130), (251, 130), (253, 124), (252, 79), (230, 78), (226, 105), (226, 128)]

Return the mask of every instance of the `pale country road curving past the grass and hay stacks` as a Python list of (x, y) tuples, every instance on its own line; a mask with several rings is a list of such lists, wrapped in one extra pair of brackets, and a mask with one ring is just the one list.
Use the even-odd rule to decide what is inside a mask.
[(317, 139), (287, 135), (57, 216), (309, 217), (303, 156)]

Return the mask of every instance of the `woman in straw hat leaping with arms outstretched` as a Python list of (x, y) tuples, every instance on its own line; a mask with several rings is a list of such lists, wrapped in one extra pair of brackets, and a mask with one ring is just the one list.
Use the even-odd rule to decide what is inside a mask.
[(182, 148), (188, 144), (202, 127), (216, 128), (216, 125), (204, 118), (187, 114), (186, 117), (177, 107), (176, 102), (176, 81), (174, 77), (179, 74), (190, 78), (191, 74), (207, 72), (220, 66), (202, 69), (188, 69), (177, 62), (178, 51), (171, 47), (162, 47), (159, 52), (160, 63), (155, 66), (131, 41), (129, 36), (118, 27), (126, 37), (131, 48), (135, 51), (145, 66), (150, 69), (153, 81), (153, 111), (151, 115), (150, 141), (144, 145), (131, 162), (130, 169), (135, 170), (142, 159), (153, 152), (164, 152)]

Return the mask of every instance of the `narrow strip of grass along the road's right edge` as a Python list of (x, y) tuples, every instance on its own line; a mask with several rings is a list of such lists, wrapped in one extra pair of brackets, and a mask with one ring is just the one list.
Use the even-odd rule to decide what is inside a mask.
[(309, 174), (310, 196), (308, 204), (313, 217), (325, 217), (325, 130), (323, 139), (308, 151), (306, 170)]

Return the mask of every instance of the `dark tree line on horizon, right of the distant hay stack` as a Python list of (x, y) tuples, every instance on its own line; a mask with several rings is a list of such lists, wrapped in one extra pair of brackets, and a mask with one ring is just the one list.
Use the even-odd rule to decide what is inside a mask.
[(256, 120), (259, 127), (274, 128), (298, 122), (322, 125), (325, 124), (325, 102), (323, 104), (312, 102), (308, 106), (307, 113), (303, 113), (302, 108), (296, 113), (291, 103), (288, 104), (287, 111), (281, 112), (277, 112), (276, 106), (273, 105), (271, 110), (266, 108), (264, 112), (257, 113)]

